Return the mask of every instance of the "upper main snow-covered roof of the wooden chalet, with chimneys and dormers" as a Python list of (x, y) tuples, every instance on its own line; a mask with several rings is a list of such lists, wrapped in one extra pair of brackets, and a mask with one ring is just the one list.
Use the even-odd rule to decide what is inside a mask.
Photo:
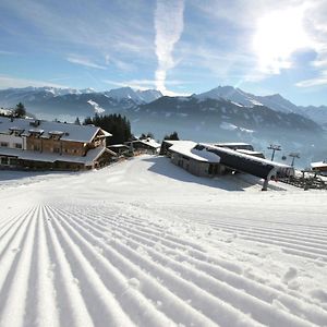
[(76, 125), (71, 123), (60, 123), (39, 120), (37, 126), (33, 125), (34, 119), (19, 119), (11, 121), (10, 118), (0, 117), (0, 133), (8, 134), (13, 129), (24, 131), (24, 136), (28, 136), (29, 132), (41, 133), (44, 138), (49, 137), (53, 133), (62, 133), (61, 140), (75, 142), (90, 142), (94, 136), (102, 131), (104, 136), (111, 136), (110, 133), (94, 125)]

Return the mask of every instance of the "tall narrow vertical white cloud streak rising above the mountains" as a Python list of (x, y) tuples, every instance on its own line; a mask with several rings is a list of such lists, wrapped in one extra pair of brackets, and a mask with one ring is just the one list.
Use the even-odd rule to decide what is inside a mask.
[(157, 0), (155, 12), (156, 55), (156, 87), (166, 93), (167, 72), (174, 66), (172, 51), (183, 32), (183, 0)]

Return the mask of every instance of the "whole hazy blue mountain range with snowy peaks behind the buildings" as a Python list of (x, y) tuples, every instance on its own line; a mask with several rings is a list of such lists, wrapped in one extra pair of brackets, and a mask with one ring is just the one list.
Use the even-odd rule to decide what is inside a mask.
[(168, 97), (155, 89), (26, 87), (0, 90), (0, 107), (23, 102), (41, 119), (74, 121), (76, 117), (121, 113), (135, 134), (153, 132), (158, 138), (178, 131), (197, 141), (243, 141), (258, 148), (279, 143), (311, 158), (326, 157), (327, 107), (295, 106), (279, 94), (256, 96), (232, 86), (202, 94)]

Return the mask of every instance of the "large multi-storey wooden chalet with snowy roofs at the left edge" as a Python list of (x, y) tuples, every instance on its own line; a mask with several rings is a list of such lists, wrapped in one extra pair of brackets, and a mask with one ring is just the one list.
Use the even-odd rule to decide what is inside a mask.
[(109, 136), (94, 125), (0, 117), (0, 166), (56, 170), (102, 167), (116, 156), (106, 148)]

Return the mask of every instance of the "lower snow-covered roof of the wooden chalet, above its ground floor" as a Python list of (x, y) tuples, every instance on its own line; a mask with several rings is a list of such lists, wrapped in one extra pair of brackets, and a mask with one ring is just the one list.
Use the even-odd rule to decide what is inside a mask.
[(110, 153), (112, 156), (116, 154), (104, 146), (96, 147), (87, 152), (86, 156), (69, 156), (69, 155), (59, 155), (52, 153), (38, 153), (33, 150), (22, 150), (15, 148), (1, 147), (0, 155), (12, 156), (23, 160), (34, 160), (34, 161), (43, 161), (43, 162), (74, 162), (74, 164), (84, 164), (92, 165), (100, 155), (105, 152)]

